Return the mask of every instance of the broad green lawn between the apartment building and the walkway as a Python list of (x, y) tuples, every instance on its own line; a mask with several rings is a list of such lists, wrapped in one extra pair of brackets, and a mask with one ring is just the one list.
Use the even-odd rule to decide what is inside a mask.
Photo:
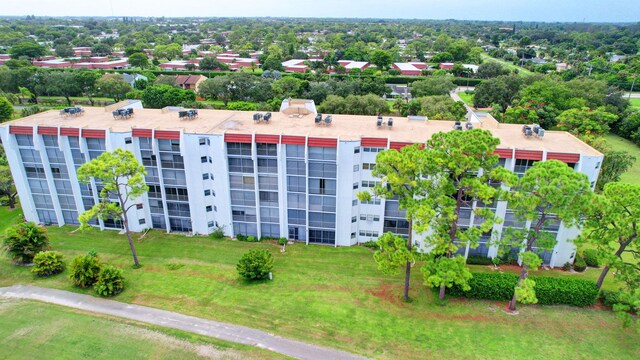
[[(18, 218), (15, 213), (0, 212), (0, 226)], [(73, 230), (49, 228), (53, 249), (67, 260), (94, 249), (104, 261), (125, 269), (127, 288), (115, 300), (251, 326), (369, 357), (633, 359), (639, 349), (640, 337), (621, 329), (609, 311), (523, 306), (519, 316), (511, 316), (500, 310), (505, 304), (488, 301), (450, 299), (444, 307), (436, 305), (417, 269), (414, 301), (403, 303), (401, 276), (382, 275), (372, 252), (363, 247), (294, 244), (283, 254), (270, 243), (151, 231), (136, 240), (143, 267), (134, 270), (125, 236)], [(273, 281), (248, 283), (238, 277), (235, 264), (251, 248), (273, 253)], [(0, 260), (0, 274), (0, 286), (33, 284), (92, 294), (73, 288), (66, 272), (36, 279), (28, 268), (6, 258)]]

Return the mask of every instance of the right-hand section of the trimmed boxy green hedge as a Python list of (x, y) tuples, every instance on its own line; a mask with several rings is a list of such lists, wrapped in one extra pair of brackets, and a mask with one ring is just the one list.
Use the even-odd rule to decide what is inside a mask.
[(573, 278), (534, 277), (538, 304), (589, 306), (598, 299), (598, 287), (591, 280)]

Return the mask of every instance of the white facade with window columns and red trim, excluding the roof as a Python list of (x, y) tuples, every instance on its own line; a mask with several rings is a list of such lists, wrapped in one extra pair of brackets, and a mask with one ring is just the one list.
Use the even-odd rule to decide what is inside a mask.
[[(186, 134), (181, 131), (109, 130), (57, 127), (0, 127), (0, 138), (21, 198), (25, 218), (47, 224), (77, 224), (77, 214), (99, 201), (100, 184), (80, 184), (76, 170), (103, 151), (131, 150), (147, 169), (150, 192), (136, 199), (128, 216), (131, 229), (157, 228), (208, 234), (288, 237), (305, 243), (350, 246), (375, 240), (386, 231), (406, 236), (408, 223), (395, 199), (357, 200), (378, 179), (371, 170), (377, 154), (405, 143), (387, 138), (344, 140), (260, 134)], [(503, 166), (522, 174), (535, 161), (555, 158), (586, 174), (595, 186), (602, 156), (498, 149)], [(234, 160), (235, 159), (235, 160)], [(576, 161), (573, 163), (573, 161)], [(488, 206), (505, 219), (489, 236), (518, 224), (505, 202), (464, 209), (461, 226), (471, 226), (472, 209)], [(101, 229), (120, 228), (99, 220)], [(543, 254), (546, 264), (562, 266), (575, 257), (568, 240), (580, 229), (550, 224), (558, 244)], [(418, 243), (424, 234), (414, 234)], [(427, 251), (428, 249), (423, 250)], [(496, 256), (488, 244), (465, 256)]]

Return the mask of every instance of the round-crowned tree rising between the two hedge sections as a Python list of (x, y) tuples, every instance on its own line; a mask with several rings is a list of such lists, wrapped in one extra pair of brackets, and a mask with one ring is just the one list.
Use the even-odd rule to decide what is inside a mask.
[(503, 235), (503, 248), (517, 247), (522, 259), (520, 277), (509, 302), (511, 311), (515, 311), (518, 302), (537, 302), (535, 282), (527, 276), (529, 269), (536, 269), (542, 264), (534, 247), (551, 250), (556, 244), (555, 234), (545, 231), (545, 228), (557, 221), (562, 221), (567, 227), (577, 225), (591, 195), (587, 176), (558, 160), (536, 162), (513, 189), (509, 205), (517, 218), (531, 221), (531, 228), (510, 228)]

